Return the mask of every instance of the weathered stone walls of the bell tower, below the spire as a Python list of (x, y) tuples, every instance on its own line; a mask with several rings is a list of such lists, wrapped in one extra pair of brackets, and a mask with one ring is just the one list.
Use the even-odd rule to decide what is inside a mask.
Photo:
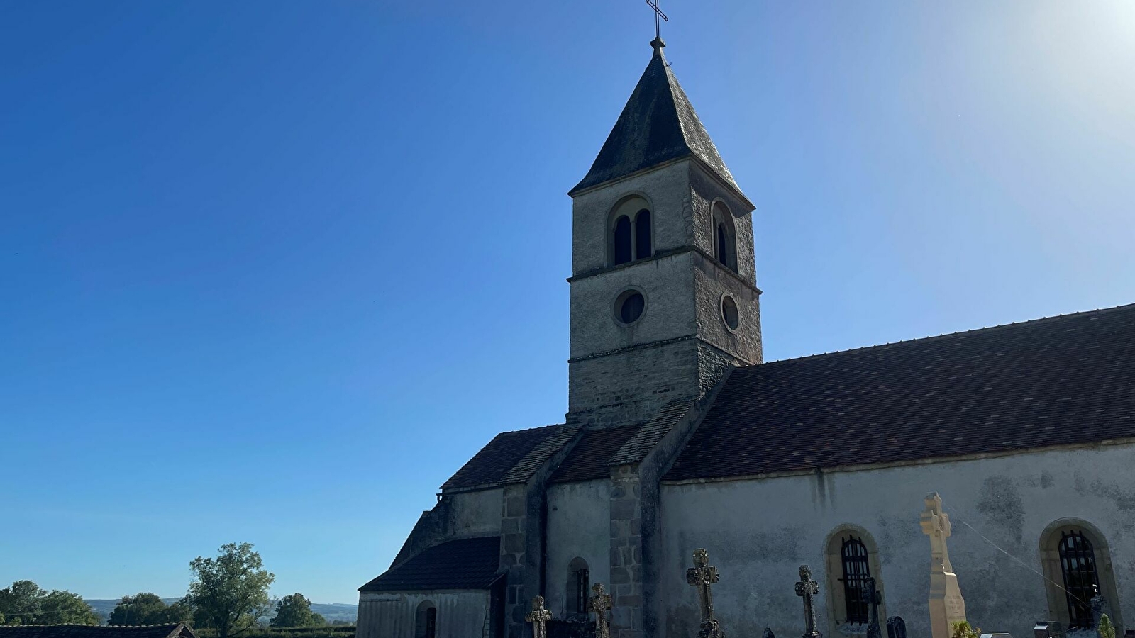
[[(654, 254), (609, 265), (609, 218), (627, 198), (649, 205)], [(733, 212), (738, 271), (712, 257), (711, 207)], [(683, 159), (575, 195), (571, 283), (569, 422), (619, 426), (649, 419), (674, 400), (695, 400), (732, 366), (759, 363), (760, 291), (753, 266), (751, 205), (697, 160)], [(615, 300), (641, 292), (630, 326)], [(722, 299), (739, 309), (726, 326)]]

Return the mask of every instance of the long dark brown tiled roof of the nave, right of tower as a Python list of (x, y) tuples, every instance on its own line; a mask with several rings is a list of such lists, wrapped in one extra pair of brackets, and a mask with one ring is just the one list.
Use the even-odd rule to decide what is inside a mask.
[(665, 480), (1135, 437), (1135, 304), (732, 372)]

